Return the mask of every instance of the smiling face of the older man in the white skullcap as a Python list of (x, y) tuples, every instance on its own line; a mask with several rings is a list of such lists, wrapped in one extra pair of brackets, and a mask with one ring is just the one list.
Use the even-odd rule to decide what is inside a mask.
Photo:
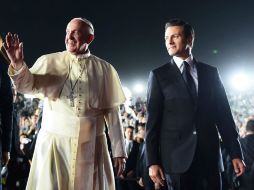
[(66, 28), (66, 50), (75, 55), (84, 53), (88, 48), (87, 38), (87, 25), (78, 19), (71, 20)]

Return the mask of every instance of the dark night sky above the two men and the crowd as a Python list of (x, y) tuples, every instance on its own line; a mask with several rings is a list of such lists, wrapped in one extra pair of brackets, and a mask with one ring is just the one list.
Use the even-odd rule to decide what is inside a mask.
[(95, 27), (91, 53), (110, 62), (124, 85), (146, 84), (149, 71), (169, 61), (164, 25), (181, 18), (195, 29), (193, 54), (217, 66), (227, 84), (235, 71), (253, 73), (253, 1), (1, 0), (0, 32), (19, 34), (29, 66), (65, 49), (67, 23), (85, 17)]

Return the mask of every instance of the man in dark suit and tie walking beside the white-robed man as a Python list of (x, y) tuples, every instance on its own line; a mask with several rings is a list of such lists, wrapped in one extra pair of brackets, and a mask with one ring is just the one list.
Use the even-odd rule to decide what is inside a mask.
[(153, 182), (169, 190), (220, 190), (219, 134), (237, 175), (244, 172), (242, 152), (218, 71), (193, 58), (193, 42), (188, 23), (166, 23), (165, 45), (173, 58), (149, 76), (147, 165)]

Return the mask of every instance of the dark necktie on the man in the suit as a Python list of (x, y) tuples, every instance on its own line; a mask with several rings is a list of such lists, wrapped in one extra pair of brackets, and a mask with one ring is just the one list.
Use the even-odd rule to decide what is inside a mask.
[(194, 104), (196, 104), (198, 95), (197, 95), (195, 82), (190, 74), (190, 65), (186, 61), (184, 61), (183, 64), (184, 64), (183, 73), (182, 73), (183, 79), (185, 80), (185, 83), (189, 89), (189, 92), (192, 96)]

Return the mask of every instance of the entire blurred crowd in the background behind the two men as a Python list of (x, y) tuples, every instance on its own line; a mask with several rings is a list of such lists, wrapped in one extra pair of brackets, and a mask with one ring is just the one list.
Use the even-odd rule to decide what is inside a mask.
[[(241, 138), (248, 135), (247, 121), (253, 121), (254, 134), (254, 96), (253, 94), (228, 94), (233, 117)], [(33, 150), (42, 120), (42, 100), (25, 98), (14, 91), (14, 116), (11, 160), (8, 169), (2, 171), (4, 189), (25, 189)], [(132, 98), (121, 105), (121, 117), (125, 137), (125, 149), (128, 154), (125, 171), (116, 178), (118, 190), (156, 189), (149, 178), (145, 161), (145, 125), (146, 101), (144, 97)], [(253, 136), (253, 135), (252, 135)], [(242, 143), (243, 141), (241, 141)], [(253, 141), (254, 142), (254, 141)], [(244, 142), (243, 142), (244, 143)], [(249, 146), (249, 145), (246, 145)], [(223, 147), (223, 142), (222, 142)], [(245, 147), (243, 147), (243, 151)], [(247, 149), (248, 151), (248, 149)], [(251, 151), (250, 151), (251, 152)], [(252, 151), (253, 152), (253, 151)], [(248, 164), (253, 164), (254, 154), (247, 155)], [(226, 152), (223, 189), (236, 189), (237, 181), (230, 168), (230, 158)], [(231, 175), (232, 174), (232, 175)]]

